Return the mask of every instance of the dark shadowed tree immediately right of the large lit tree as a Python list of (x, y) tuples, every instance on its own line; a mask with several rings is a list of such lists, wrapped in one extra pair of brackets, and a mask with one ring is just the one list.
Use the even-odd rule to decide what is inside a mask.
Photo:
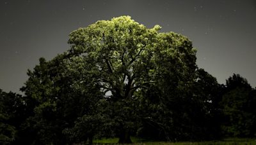
[(204, 69), (196, 71), (195, 88), (193, 92), (193, 121), (195, 139), (220, 139), (221, 137), (221, 110), (220, 102), (223, 94), (223, 85)]

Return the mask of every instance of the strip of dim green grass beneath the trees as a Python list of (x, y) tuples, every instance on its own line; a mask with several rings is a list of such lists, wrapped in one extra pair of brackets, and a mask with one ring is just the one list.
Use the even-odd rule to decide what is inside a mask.
[[(132, 137), (132, 142), (134, 144), (140, 145), (256, 145), (256, 139), (224, 139), (223, 141), (206, 141), (206, 142), (156, 142), (156, 141), (146, 141), (145, 139), (138, 139)], [(93, 141), (93, 144), (116, 144), (118, 142), (117, 138), (113, 139), (98, 139)]]

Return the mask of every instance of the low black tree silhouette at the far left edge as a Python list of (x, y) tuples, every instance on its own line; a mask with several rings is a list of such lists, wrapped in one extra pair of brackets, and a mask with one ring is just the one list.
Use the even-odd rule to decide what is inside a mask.
[(26, 119), (22, 96), (0, 89), (0, 144), (11, 144), (20, 137), (20, 125)]

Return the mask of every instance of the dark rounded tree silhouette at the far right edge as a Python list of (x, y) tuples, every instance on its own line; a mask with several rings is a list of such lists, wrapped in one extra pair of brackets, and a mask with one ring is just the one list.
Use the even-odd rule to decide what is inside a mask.
[(225, 94), (221, 101), (225, 121), (223, 131), (235, 137), (255, 135), (255, 94), (245, 78), (234, 74), (227, 79)]

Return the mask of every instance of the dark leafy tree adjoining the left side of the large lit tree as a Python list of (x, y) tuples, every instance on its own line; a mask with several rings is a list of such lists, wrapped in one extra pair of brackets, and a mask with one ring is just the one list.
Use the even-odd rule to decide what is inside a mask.
[(76, 142), (66, 137), (65, 130), (72, 128), (77, 118), (93, 114), (93, 106), (102, 97), (90, 78), (81, 82), (83, 70), (67, 68), (69, 59), (67, 53), (48, 62), (41, 58), (40, 64), (28, 71), (29, 79), (21, 88), (32, 112), (23, 125), (33, 136), (28, 144)]

